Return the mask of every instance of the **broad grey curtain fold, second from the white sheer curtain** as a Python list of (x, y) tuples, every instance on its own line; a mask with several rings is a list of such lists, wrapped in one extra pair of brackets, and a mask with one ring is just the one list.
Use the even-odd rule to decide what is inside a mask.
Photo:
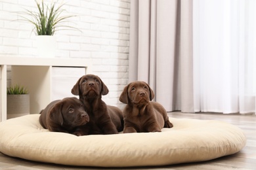
[(156, 101), (167, 110), (181, 110), (178, 1), (158, 1), (156, 38)]

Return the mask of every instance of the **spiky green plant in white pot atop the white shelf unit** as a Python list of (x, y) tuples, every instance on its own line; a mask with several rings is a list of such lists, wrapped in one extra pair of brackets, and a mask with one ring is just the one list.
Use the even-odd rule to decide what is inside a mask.
[[(33, 24), (33, 31), (37, 35), (37, 50), (39, 57), (54, 57), (56, 51), (56, 39), (54, 33), (63, 28), (72, 28), (65, 25), (65, 20), (75, 15), (62, 16), (63, 5), (57, 6), (57, 1), (47, 5), (42, 0), (41, 3), (35, 0), (37, 9), (36, 11), (25, 9), (26, 16), (21, 16), (23, 20)], [(31, 18), (28, 18), (31, 16)], [(43, 36), (42, 36), (43, 35)]]

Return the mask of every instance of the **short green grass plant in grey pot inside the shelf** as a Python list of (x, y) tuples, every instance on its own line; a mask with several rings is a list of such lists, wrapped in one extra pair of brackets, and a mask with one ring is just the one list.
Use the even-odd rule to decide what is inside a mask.
[(18, 84), (7, 88), (7, 119), (30, 114), (30, 94)]

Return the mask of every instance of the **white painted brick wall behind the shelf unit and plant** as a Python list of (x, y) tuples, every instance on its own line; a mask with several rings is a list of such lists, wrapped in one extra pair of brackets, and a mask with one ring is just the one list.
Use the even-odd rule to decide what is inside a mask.
[[(119, 94), (128, 81), (129, 1), (64, 0), (68, 12), (64, 14), (77, 15), (68, 24), (81, 32), (62, 30), (55, 34), (56, 57), (91, 58), (93, 74), (100, 76), (110, 90), (104, 101), (119, 107), (123, 106)], [(0, 0), (0, 56), (37, 55), (32, 25), (18, 20), (18, 11), (24, 8), (35, 9), (35, 1)]]

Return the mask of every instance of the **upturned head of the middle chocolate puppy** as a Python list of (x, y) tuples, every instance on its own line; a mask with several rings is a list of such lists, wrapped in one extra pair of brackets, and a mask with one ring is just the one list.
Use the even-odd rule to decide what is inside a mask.
[(96, 98), (108, 94), (108, 88), (96, 75), (85, 75), (79, 78), (71, 90), (79, 97)]

